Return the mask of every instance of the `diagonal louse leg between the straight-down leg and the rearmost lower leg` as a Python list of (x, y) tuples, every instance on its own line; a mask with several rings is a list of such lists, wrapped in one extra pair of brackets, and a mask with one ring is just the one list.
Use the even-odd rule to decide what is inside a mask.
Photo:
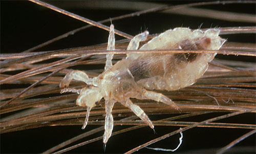
[(145, 112), (137, 105), (133, 104), (133, 102), (130, 99), (127, 99), (126, 101), (121, 101), (121, 104), (129, 109), (131, 109), (134, 114), (136, 114), (142, 121), (147, 123), (151, 129), (154, 129), (154, 125), (151, 122), (150, 118), (147, 117)]

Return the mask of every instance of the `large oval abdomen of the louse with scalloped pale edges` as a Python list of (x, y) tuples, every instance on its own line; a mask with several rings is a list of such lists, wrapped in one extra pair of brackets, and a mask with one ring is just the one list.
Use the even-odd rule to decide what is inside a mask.
[[(218, 50), (225, 39), (219, 31), (191, 31), (188, 28), (168, 30), (140, 49)], [(194, 84), (207, 70), (215, 54), (141, 54), (130, 55), (129, 69), (138, 85), (146, 89), (177, 90)]]

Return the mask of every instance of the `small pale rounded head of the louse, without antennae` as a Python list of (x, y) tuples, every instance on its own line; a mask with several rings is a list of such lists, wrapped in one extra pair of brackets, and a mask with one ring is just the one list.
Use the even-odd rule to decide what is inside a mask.
[(76, 99), (76, 104), (83, 107), (94, 107), (101, 98), (102, 95), (98, 87), (83, 88)]

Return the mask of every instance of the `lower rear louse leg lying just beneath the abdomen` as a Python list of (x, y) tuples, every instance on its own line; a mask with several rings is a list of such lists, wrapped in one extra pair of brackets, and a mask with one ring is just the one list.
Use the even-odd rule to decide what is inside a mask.
[(176, 110), (179, 110), (179, 107), (173, 102), (170, 98), (166, 97), (165, 95), (154, 92), (154, 91), (148, 91), (146, 89), (143, 89), (143, 96), (144, 99), (152, 99), (155, 101), (163, 102), (166, 105), (174, 107)]

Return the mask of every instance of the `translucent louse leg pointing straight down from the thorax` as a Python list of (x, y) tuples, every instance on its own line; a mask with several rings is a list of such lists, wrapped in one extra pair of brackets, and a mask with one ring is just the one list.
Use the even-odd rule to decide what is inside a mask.
[(112, 134), (114, 120), (113, 120), (113, 116), (112, 116), (111, 112), (114, 107), (114, 104), (115, 104), (114, 101), (105, 100), (106, 117), (105, 117), (105, 132), (103, 135), (103, 143), (108, 142), (108, 140)]

